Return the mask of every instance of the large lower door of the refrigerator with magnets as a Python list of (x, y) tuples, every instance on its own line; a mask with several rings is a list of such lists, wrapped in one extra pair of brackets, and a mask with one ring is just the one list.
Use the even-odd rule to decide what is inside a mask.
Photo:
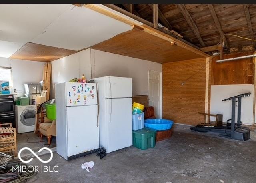
[(67, 107), (68, 156), (99, 147), (97, 105)]

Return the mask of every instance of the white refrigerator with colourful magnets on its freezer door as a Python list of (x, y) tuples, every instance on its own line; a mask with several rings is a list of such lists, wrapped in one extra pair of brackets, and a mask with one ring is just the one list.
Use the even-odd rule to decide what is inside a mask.
[(94, 83), (55, 85), (57, 153), (66, 160), (99, 147), (97, 92)]

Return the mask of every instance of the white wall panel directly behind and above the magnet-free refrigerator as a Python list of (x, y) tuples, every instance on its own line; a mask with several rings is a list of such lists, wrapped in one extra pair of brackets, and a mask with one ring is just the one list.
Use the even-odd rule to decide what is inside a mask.
[(148, 95), (149, 61), (94, 49), (91, 51), (92, 78), (102, 76), (130, 77), (132, 78), (132, 95)]

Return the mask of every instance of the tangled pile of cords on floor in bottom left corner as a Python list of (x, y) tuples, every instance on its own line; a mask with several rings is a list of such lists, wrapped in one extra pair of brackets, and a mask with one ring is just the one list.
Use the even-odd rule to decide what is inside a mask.
[[(26, 171), (18, 171), (19, 166), (26, 167)], [(15, 167), (15, 169), (13, 169)], [(17, 168), (17, 169), (16, 169)], [(23, 169), (24, 170), (24, 169)], [(32, 178), (36, 175), (36, 170), (32, 166), (27, 166), (23, 163), (10, 162), (7, 163), (4, 169), (0, 169), (0, 182), (1, 183), (21, 183), (27, 181), (27, 179)]]

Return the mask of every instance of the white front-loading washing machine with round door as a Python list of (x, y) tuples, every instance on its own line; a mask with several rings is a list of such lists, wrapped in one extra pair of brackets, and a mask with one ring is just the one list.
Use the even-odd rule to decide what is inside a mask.
[(36, 123), (36, 105), (15, 105), (15, 113), (17, 133), (34, 131)]

